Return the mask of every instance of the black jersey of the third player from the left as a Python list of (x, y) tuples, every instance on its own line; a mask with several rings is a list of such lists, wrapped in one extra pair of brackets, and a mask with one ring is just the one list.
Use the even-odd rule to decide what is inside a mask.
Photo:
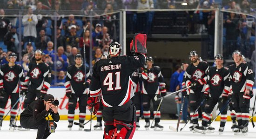
[[(84, 73), (84, 65), (77, 68), (75, 65), (72, 65), (67, 68), (67, 76), (66, 76), (66, 82), (65, 87), (67, 89), (71, 89), (73, 94), (87, 94), (88, 89), (84, 88), (84, 82), (85, 82), (85, 73)], [(91, 75), (90, 70), (88, 67), (86, 67), (86, 82), (91, 82)]]

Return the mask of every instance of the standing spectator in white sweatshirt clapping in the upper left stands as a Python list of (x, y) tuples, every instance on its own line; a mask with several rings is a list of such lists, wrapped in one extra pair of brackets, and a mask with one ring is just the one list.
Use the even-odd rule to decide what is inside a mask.
[(33, 14), (32, 8), (28, 7), (27, 14), (22, 18), (22, 24), (24, 25), (24, 43), (26, 42), (34, 42), (36, 38), (36, 24), (37, 24), (37, 16)]

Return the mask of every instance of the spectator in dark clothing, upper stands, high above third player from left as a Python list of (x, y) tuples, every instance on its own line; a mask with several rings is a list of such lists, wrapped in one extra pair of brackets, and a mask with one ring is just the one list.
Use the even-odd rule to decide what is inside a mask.
[(79, 37), (76, 34), (76, 26), (71, 25), (70, 32), (67, 35), (66, 43), (71, 45), (72, 47), (78, 47), (79, 45)]

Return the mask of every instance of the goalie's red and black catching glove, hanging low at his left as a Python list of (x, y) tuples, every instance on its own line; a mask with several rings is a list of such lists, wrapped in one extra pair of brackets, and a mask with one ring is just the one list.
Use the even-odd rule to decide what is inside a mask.
[(101, 98), (99, 96), (88, 97), (87, 109), (94, 115), (98, 112), (100, 108), (100, 100)]

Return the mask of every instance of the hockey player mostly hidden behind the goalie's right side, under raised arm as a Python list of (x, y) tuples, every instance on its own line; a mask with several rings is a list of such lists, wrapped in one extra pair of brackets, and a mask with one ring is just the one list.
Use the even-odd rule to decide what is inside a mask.
[(135, 70), (132, 73), (132, 82), (133, 82), (133, 91), (135, 92), (132, 101), (136, 107), (136, 130), (140, 128), (140, 116), (141, 116), (141, 89), (140, 89), (140, 77), (139, 77), (139, 69)]

